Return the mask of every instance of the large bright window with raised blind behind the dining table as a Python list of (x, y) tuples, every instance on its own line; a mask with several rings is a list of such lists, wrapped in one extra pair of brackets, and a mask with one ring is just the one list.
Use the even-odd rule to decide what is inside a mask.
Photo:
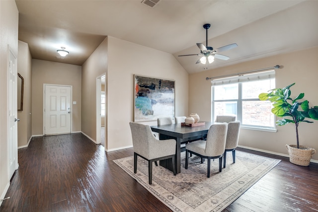
[(258, 95), (275, 88), (275, 71), (212, 80), (212, 120), (217, 115), (235, 115), (243, 128), (275, 129), (269, 101)]

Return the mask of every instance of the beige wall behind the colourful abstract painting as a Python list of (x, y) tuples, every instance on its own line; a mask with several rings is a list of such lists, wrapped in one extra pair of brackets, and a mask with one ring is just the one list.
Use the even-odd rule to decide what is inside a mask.
[[(188, 115), (188, 73), (168, 53), (108, 37), (108, 149), (132, 145), (134, 74), (175, 80), (175, 115)], [(157, 125), (157, 122), (144, 123)]]

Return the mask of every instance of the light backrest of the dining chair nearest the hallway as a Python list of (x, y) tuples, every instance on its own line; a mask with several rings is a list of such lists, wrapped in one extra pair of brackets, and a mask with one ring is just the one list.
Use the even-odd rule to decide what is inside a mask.
[(149, 149), (153, 137), (152, 130), (149, 125), (143, 125), (135, 122), (129, 122), (131, 135), (133, 138), (134, 152), (149, 158)]

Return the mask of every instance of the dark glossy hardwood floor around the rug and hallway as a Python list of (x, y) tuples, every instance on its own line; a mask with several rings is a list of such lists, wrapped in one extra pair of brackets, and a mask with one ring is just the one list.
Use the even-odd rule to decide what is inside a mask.
[[(238, 149), (282, 161), (225, 212), (318, 211), (318, 164)], [(132, 148), (107, 153), (80, 133), (35, 137), (18, 150), (0, 212), (169, 212), (112, 161), (132, 155)]]

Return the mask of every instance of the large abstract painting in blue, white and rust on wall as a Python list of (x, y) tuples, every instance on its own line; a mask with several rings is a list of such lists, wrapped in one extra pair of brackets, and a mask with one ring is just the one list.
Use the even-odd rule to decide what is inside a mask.
[(134, 74), (134, 121), (174, 118), (175, 81)]

